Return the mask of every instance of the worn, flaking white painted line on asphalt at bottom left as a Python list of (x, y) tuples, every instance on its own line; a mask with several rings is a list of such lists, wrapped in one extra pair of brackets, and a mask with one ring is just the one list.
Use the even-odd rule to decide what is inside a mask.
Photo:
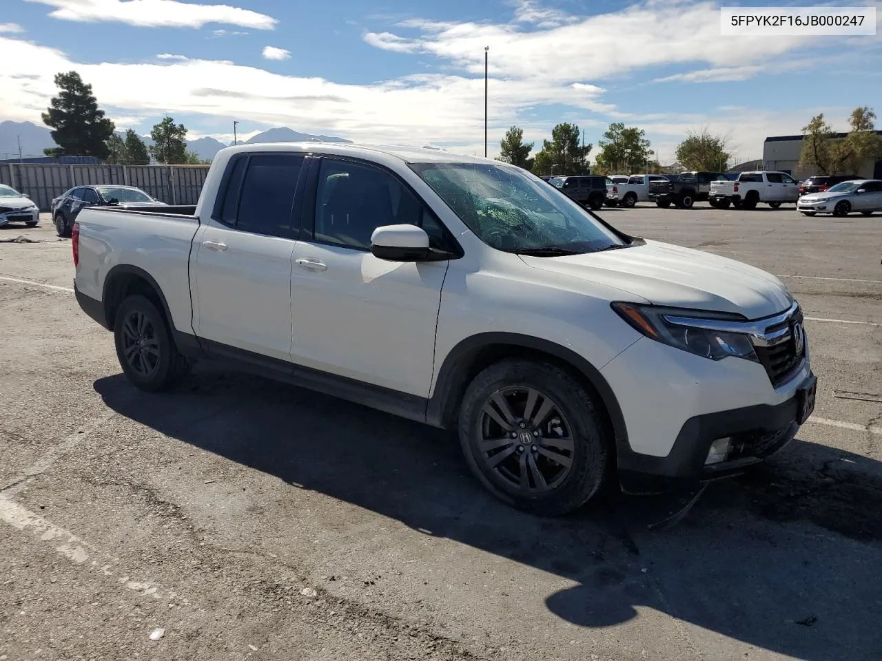
[(134, 581), (131, 580), (130, 574), (123, 573), (122, 570), (114, 571), (114, 566), (119, 563), (118, 558), (102, 553), (86, 540), (78, 538), (71, 531), (64, 530), (42, 516), (23, 508), (4, 494), (0, 494), (0, 521), (10, 524), (19, 531), (31, 532), (44, 542), (59, 540), (61, 544), (55, 546), (55, 550), (65, 558), (80, 567), (91, 568), (101, 578), (112, 578), (118, 585), (124, 585), (129, 590), (137, 591), (141, 597), (166, 598), (169, 601), (180, 600), (183, 604), (190, 603), (187, 599), (180, 598), (172, 590), (164, 589), (159, 583)]

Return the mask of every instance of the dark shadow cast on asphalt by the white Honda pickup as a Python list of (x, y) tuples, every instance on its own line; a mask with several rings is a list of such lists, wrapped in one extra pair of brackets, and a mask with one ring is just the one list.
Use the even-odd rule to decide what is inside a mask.
[(452, 434), (258, 377), (200, 366), (174, 393), (123, 375), (94, 389), (171, 438), (569, 579), (545, 604), (580, 627), (649, 608), (810, 661), (882, 657), (882, 467), (866, 457), (797, 441), (650, 532), (681, 496), (610, 489), (572, 516), (528, 516), (482, 491)]

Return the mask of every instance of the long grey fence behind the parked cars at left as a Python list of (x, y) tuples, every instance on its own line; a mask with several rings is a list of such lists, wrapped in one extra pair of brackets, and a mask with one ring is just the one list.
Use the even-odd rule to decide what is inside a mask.
[(0, 183), (29, 195), (41, 212), (67, 189), (102, 183), (135, 186), (168, 204), (196, 204), (208, 167), (2, 163)]

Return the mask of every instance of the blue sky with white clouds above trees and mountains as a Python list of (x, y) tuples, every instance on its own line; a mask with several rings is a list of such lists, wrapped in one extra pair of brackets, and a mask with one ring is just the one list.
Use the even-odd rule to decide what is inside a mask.
[[(578, 123), (596, 145), (621, 121), (662, 162), (701, 126), (747, 160), (818, 111), (841, 129), (858, 105), (882, 115), (882, 32), (721, 37), (713, 2), (226, 2), (4, 0), (0, 120), (40, 123), (54, 74), (75, 69), (117, 128), (142, 134), (168, 112), (191, 138), (226, 142), (236, 119), (243, 137), (288, 126), (480, 154), (485, 46), (490, 155), (512, 123), (540, 143)], [(840, 4), (882, 20), (882, 3)]]

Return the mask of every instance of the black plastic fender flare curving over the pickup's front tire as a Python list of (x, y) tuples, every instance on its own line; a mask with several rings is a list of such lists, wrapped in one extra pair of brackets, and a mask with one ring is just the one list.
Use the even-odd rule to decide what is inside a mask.
[(426, 421), (436, 427), (448, 427), (459, 406), (459, 398), (468, 385), (471, 367), (482, 350), (504, 348), (516, 353), (518, 349), (546, 353), (574, 369), (594, 388), (606, 408), (617, 449), (630, 449), (622, 407), (616, 394), (600, 370), (578, 353), (556, 342), (510, 332), (478, 333), (455, 345), (437, 370), (435, 390), (426, 405)]

